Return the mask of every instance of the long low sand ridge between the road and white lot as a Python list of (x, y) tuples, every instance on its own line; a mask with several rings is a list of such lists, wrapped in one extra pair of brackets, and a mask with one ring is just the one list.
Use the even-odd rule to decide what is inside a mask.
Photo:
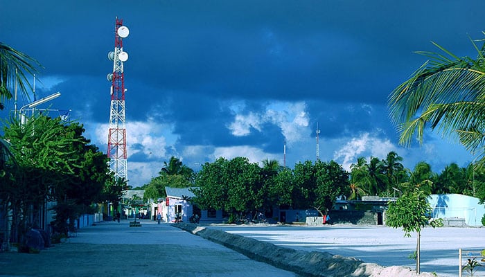
[(367, 263), (357, 258), (332, 255), (319, 251), (299, 251), (278, 247), (270, 242), (261, 242), (241, 235), (224, 231), (206, 229), (195, 224), (179, 223), (178, 228), (191, 232), (206, 240), (224, 245), (229, 249), (243, 253), (245, 256), (266, 262), (274, 267), (293, 271), (302, 276), (395, 276), (395, 277), (427, 277), (430, 273), (416, 274), (408, 267), (382, 267)]

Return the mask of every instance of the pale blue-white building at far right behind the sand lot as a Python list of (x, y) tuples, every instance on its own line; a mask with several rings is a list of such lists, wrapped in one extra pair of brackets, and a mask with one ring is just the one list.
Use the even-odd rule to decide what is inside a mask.
[(485, 207), (480, 199), (467, 195), (430, 195), (428, 202), (433, 208), (433, 217), (442, 218), (445, 226), (480, 227)]

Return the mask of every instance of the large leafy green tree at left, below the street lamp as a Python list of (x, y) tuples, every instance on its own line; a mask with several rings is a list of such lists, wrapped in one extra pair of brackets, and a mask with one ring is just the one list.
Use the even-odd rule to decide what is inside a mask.
[(64, 222), (55, 224), (60, 226), (89, 211), (109, 180), (109, 168), (106, 155), (82, 136), (82, 125), (35, 115), (24, 125), (14, 118), (3, 131), (17, 161), (15, 182), (0, 188), (1, 200), (17, 211), (12, 218), (14, 241), (21, 241), (30, 215), (36, 216), (46, 199), (58, 203), (56, 220)]

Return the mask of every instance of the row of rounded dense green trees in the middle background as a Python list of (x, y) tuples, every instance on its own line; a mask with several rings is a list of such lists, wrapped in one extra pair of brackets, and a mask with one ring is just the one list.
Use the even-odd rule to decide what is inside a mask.
[(349, 186), (349, 174), (335, 161), (306, 161), (291, 170), (275, 161), (263, 161), (260, 168), (247, 158), (220, 158), (202, 166), (196, 185), (193, 202), (203, 209), (222, 209), (236, 222), (246, 213), (265, 213), (274, 206), (328, 210)]

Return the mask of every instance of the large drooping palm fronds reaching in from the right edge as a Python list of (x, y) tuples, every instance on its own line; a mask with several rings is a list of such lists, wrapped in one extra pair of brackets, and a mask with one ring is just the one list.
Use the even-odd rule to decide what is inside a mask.
[(478, 149), (477, 163), (484, 166), (485, 44), (479, 48), (472, 40), (477, 51), (475, 60), (457, 57), (433, 44), (443, 53), (418, 52), (430, 61), (389, 97), (391, 119), (398, 126), (400, 143), (409, 145), (415, 134), (422, 142), (424, 129), (429, 126), (443, 136), (457, 136), (474, 154)]

